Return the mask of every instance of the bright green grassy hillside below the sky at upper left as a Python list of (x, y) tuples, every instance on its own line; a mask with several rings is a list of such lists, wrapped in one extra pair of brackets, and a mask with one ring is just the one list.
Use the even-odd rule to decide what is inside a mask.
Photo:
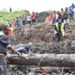
[(29, 12), (27, 10), (15, 11), (11, 13), (7, 11), (0, 11), (0, 25), (5, 24), (7, 20), (10, 20), (12, 22), (16, 17), (28, 14)]

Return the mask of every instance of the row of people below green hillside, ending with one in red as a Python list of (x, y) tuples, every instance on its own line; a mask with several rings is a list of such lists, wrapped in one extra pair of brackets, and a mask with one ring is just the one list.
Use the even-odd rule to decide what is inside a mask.
[(28, 16), (23, 15), (23, 16), (17, 17), (16, 19), (13, 19), (12, 24), (16, 28), (26, 24), (32, 25), (32, 24), (35, 24), (36, 18), (37, 18), (36, 13), (33, 12), (31, 15), (30, 14)]

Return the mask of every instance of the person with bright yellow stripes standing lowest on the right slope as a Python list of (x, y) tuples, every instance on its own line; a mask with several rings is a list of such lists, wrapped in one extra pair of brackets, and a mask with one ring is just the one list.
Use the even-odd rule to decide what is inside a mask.
[(61, 16), (58, 16), (57, 22), (55, 24), (55, 37), (58, 42), (60, 42), (62, 39), (62, 36), (64, 36), (64, 23)]

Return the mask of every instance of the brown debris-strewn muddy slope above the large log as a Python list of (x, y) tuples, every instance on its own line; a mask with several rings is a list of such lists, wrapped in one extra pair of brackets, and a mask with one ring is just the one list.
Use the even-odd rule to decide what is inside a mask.
[(70, 25), (70, 29), (66, 29), (65, 36), (59, 43), (56, 42), (54, 29), (47, 24), (39, 24), (37, 26), (25, 26), (16, 30), (15, 44), (32, 43), (32, 52), (39, 53), (75, 53), (75, 26)]

